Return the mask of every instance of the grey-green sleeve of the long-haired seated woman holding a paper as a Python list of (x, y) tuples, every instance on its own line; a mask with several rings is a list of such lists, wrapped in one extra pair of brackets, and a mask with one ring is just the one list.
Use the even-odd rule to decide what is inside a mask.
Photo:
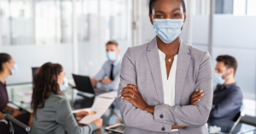
[(58, 122), (67, 131), (67, 133), (89, 134), (96, 130), (96, 124), (94, 122), (90, 123), (88, 126), (78, 126), (67, 98), (61, 99), (61, 103), (56, 111), (56, 122)]

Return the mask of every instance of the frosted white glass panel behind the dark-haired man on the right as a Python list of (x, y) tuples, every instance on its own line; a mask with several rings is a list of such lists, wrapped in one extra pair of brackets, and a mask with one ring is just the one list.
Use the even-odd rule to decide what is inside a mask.
[(220, 54), (234, 56), (238, 62), (236, 81), (247, 97), (256, 93), (255, 24), (255, 16), (214, 15), (213, 18), (213, 64)]

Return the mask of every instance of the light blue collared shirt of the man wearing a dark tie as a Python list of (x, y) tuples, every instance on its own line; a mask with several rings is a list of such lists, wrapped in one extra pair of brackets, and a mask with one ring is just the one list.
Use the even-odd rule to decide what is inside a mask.
[[(114, 80), (107, 85), (103, 85), (100, 81), (105, 77), (110, 78), (111, 64), (113, 64)], [(98, 81), (96, 87), (100, 88), (100, 89), (108, 90), (108, 91), (109, 90), (118, 90), (119, 81), (120, 81), (119, 75), (120, 75), (120, 71), (121, 71), (121, 64), (122, 64), (122, 58), (120, 56), (114, 62), (112, 62), (110, 60), (106, 61), (105, 64), (103, 64), (103, 66), (102, 66), (102, 70), (100, 70), (98, 72), (98, 74), (94, 77), (96, 79), (96, 81)]]

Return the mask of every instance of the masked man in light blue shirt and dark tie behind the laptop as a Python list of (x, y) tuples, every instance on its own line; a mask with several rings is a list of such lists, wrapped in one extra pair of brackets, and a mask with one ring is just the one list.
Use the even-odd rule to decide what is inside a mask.
[(96, 88), (116, 91), (119, 87), (122, 58), (119, 56), (120, 50), (117, 42), (107, 42), (106, 48), (108, 61), (103, 64), (102, 70), (91, 79), (91, 83)]

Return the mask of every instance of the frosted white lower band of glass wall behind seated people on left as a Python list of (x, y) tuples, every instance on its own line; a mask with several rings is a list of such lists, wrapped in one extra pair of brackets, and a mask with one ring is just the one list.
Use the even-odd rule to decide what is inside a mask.
[[(131, 41), (117, 42), (121, 49), (120, 56), (132, 46)], [(79, 75), (96, 75), (107, 60), (105, 45), (106, 42), (79, 43)], [(9, 76), (7, 84), (32, 82), (32, 67), (40, 67), (46, 62), (61, 64), (66, 70), (67, 78), (72, 78), (72, 44), (3, 46), (2, 50), (1, 52), (9, 53), (15, 59), (19, 68), (16, 75)]]

